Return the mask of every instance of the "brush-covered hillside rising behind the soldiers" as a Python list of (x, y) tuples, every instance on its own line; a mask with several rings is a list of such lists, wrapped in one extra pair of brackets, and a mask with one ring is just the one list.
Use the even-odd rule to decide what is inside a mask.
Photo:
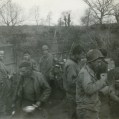
[[(92, 25), (90, 27), (59, 27), (39, 26), (16, 26), (14, 29), (0, 27), (1, 40), (13, 44), (19, 55), (29, 49), (34, 57), (42, 54), (41, 46), (47, 44), (52, 53), (68, 52), (71, 48), (80, 44), (87, 52), (91, 48), (104, 48), (108, 55), (116, 59), (119, 50), (119, 26), (117, 24)], [(112, 53), (114, 52), (114, 53)], [(114, 56), (112, 56), (112, 54)]]

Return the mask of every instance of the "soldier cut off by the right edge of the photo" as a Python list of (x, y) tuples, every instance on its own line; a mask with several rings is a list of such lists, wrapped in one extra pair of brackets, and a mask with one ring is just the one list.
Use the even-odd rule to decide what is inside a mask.
[(110, 116), (111, 119), (119, 119), (119, 67), (108, 72), (110, 87)]

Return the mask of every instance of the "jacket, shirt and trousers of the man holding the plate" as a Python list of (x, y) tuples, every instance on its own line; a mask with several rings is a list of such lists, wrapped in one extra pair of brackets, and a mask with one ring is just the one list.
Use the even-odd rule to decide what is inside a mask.
[[(35, 104), (38, 101), (41, 103), (46, 102), (50, 92), (51, 89), (40, 72), (33, 71), (30, 77), (21, 77), (16, 92), (15, 102), (19, 101), (23, 118), (29, 118), (29, 114), (22, 112), (23, 107), (32, 106), (32, 104)], [(41, 117), (39, 114), (41, 113), (37, 109), (30, 114), (30, 118), (37, 119)]]

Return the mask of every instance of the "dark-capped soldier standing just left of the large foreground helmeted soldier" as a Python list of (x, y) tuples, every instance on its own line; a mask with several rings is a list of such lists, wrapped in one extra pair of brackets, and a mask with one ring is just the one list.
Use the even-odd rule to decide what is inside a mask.
[(76, 118), (76, 78), (80, 70), (81, 54), (80, 46), (75, 46), (64, 67), (63, 85), (66, 92), (66, 105), (64, 108), (67, 112), (67, 119)]

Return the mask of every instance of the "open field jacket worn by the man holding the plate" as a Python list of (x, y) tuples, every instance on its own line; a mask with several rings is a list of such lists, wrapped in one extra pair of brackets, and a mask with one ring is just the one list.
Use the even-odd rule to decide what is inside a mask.
[[(51, 93), (51, 88), (49, 84), (46, 82), (46, 80), (44, 80), (44, 77), (40, 72), (33, 71), (31, 78), (33, 78), (33, 82), (34, 82), (34, 89), (36, 94), (35, 100), (40, 102), (46, 102)], [(15, 93), (14, 101), (17, 101), (19, 98), (22, 101), (23, 83), (24, 83), (24, 78), (20, 77), (17, 90)]]

